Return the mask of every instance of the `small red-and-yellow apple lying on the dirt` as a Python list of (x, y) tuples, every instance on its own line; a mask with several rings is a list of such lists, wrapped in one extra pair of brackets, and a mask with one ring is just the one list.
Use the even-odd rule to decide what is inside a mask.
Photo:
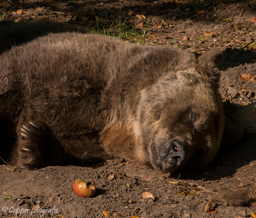
[(96, 191), (92, 181), (77, 179), (73, 184), (73, 190), (80, 197), (91, 197)]

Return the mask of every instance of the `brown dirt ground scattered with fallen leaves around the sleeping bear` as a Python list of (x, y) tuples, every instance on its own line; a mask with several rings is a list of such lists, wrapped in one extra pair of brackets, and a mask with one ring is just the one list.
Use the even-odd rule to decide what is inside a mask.
[[(235, 121), (237, 108), (256, 102), (255, 0), (0, 0), (0, 17), (17, 22), (50, 18), (91, 32), (102, 25), (111, 31), (112, 22), (126, 19), (126, 27), (140, 33), (149, 27), (142, 40), (125, 39), (134, 43), (198, 53), (221, 49), (220, 93), (227, 116)], [(0, 161), (0, 217), (256, 217), (254, 130), (247, 129), (237, 144), (223, 142), (205, 168), (173, 174), (123, 159), (34, 171), (12, 171)], [(78, 178), (95, 182), (93, 197), (75, 194)], [(154, 197), (142, 198), (143, 192)]]

